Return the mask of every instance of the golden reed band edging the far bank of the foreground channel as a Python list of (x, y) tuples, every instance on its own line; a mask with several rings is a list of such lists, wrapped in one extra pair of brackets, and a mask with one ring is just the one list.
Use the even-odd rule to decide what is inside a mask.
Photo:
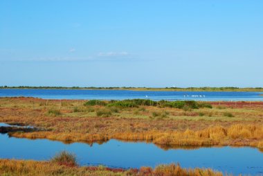
[(183, 132), (123, 132), (115, 134), (81, 134), (53, 132), (14, 132), (12, 137), (29, 139), (52, 139), (59, 141), (147, 141), (166, 146), (263, 146), (262, 125), (231, 125), (230, 127), (208, 127), (204, 130), (185, 130)]

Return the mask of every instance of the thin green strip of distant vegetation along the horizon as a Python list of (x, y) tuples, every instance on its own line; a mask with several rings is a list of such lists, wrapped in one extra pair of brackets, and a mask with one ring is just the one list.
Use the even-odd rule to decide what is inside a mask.
[(0, 86), (0, 89), (94, 89), (94, 90), (134, 90), (134, 91), (263, 91), (263, 87), (31, 87)]

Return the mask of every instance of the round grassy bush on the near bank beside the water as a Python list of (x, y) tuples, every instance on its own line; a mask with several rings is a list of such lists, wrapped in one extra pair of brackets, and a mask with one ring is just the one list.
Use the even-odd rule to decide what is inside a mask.
[(72, 153), (62, 151), (51, 159), (51, 162), (66, 166), (78, 166), (76, 156)]

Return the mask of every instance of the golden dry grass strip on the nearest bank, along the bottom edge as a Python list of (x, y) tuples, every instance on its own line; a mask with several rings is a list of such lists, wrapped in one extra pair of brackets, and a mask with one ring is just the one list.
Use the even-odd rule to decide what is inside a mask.
[(3, 176), (48, 176), (48, 175), (131, 175), (131, 176), (222, 176), (222, 173), (211, 169), (186, 169), (177, 164), (161, 165), (156, 168), (142, 167), (138, 169), (110, 169), (98, 167), (69, 167), (49, 161), (24, 161), (0, 159), (0, 175)]

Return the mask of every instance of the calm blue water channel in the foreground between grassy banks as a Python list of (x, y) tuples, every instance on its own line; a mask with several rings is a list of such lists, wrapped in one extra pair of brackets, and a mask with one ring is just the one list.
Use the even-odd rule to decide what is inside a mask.
[(47, 139), (17, 139), (0, 134), (0, 157), (6, 159), (51, 159), (66, 150), (78, 157), (80, 165), (99, 165), (118, 168), (139, 168), (158, 164), (179, 163), (184, 168), (213, 168), (235, 175), (263, 175), (263, 153), (255, 148), (199, 148), (194, 150), (162, 150), (152, 143), (127, 143), (111, 140), (94, 143), (64, 144)]

